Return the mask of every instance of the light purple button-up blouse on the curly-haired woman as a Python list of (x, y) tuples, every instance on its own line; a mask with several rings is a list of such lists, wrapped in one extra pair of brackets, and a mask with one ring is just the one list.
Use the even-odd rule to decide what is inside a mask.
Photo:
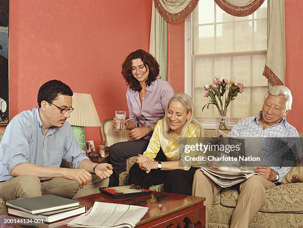
[[(137, 127), (149, 126), (157, 123), (164, 117), (169, 99), (174, 95), (174, 90), (167, 81), (157, 78), (146, 88), (146, 95), (142, 101), (139, 92), (127, 88), (126, 100), (129, 111), (129, 119), (137, 123)], [(150, 139), (152, 134), (144, 139)]]

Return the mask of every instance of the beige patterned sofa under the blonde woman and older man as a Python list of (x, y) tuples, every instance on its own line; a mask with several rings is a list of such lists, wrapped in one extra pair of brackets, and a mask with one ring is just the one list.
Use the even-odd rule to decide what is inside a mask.
[[(215, 132), (205, 130), (204, 134), (206, 137), (214, 137)], [(302, 133), (300, 137), (303, 137)], [(120, 186), (127, 184), (128, 171), (135, 161), (136, 157), (127, 160), (127, 170), (119, 176)], [(284, 180), (284, 184), (271, 189), (249, 228), (303, 228), (303, 168), (300, 168), (301, 183)], [(163, 185), (153, 186), (152, 189), (163, 191)], [(214, 197), (208, 228), (229, 228), (238, 195), (238, 190), (227, 188)]]

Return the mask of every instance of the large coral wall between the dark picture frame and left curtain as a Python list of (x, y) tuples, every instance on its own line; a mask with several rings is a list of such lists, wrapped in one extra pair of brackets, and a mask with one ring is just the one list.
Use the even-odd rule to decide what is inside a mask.
[[(37, 106), (39, 87), (54, 78), (90, 93), (101, 120), (127, 110), (121, 64), (149, 50), (151, 14), (152, 0), (11, 1), (10, 119)], [(100, 128), (86, 130), (98, 147)]]

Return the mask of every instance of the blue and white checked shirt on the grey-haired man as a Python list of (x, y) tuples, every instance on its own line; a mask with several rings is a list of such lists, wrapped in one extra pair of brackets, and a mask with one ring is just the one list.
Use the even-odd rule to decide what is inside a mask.
[[(274, 124), (267, 127), (265, 130), (262, 129), (262, 125), (258, 122), (259, 118), (262, 116), (262, 111), (260, 111), (256, 116), (246, 117), (241, 119), (229, 132), (231, 137), (250, 137), (254, 135), (260, 135), (262, 137), (262, 149), (263, 149), (263, 158), (265, 164), (270, 164), (274, 162), (275, 164), (284, 164), (282, 167), (272, 166), (271, 169), (275, 170), (279, 174), (279, 180), (277, 182), (282, 182), (286, 173), (290, 170), (291, 167), (285, 167), (285, 164), (289, 164), (289, 161), (294, 160), (293, 153), (287, 152), (284, 153), (286, 157), (283, 157), (285, 160), (281, 160), (281, 157), (275, 157), (273, 152), (279, 151), (281, 148), (281, 143), (283, 140), (274, 140), (272, 137), (276, 138), (290, 138), (294, 139), (295, 144), (298, 142), (299, 133), (297, 129), (290, 125), (285, 118), (280, 123)], [(271, 139), (269, 139), (271, 137)], [(270, 142), (269, 142), (270, 141)], [(287, 140), (288, 141), (288, 140)], [(283, 147), (283, 145), (282, 145)], [(285, 149), (285, 148), (284, 148)], [(289, 148), (290, 149), (290, 148)], [(301, 148), (300, 148), (301, 149)], [(264, 152), (265, 151), (265, 152)], [(269, 153), (266, 153), (269, 152)], [(266, 155), (269, 154), (269, 155)], [(289, 156), (289, 157), (287, 157)], [(279, 158), (280, 160), (277, 161)]]

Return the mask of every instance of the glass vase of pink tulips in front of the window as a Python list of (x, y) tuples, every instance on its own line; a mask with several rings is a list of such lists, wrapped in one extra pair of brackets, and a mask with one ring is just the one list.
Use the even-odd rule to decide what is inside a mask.
[(227, 108), (238, 93), (243, 92), (244, 85), (240, 82), (236, 83), (234, 77), (230, 80), (226, 78), (220, 80), (220, 77), (216, 76), (213, 78), (213, 84), (201, 83), (201, 87), (206, 91), (204, 97), (209, 99), (208, 103), (202, 107), (202, 112), (205, 107), (208, 109), (209, 105), (215, 105), (219, 112), (219, 129), (227, 129)]

